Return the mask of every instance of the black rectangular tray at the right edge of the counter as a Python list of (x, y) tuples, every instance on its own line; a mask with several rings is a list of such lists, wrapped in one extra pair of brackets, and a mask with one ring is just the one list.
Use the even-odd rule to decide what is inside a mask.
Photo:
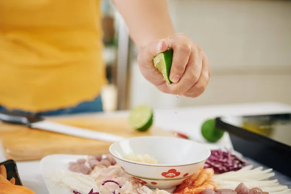
[(215, 125), (236, 151), (291, 177), (291, 113), (218, 117)]

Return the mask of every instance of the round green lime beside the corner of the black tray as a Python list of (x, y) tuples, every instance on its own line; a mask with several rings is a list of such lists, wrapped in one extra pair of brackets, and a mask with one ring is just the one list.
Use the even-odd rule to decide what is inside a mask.
[(215, 128), (214, 119), (208, 119), (202, 124), (201, 132), (207, 141), (214, 143), (222, 138), (225, 131)]

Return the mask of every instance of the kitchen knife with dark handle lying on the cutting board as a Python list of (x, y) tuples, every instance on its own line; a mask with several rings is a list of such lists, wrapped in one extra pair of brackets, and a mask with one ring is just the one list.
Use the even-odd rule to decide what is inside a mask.
[(28, 115), (23, 113), (0, 112), (0, 121), (18, 125), (26, 125), (32, 129), (42, 129), (51, 132), (83, 137), (87, 139), (95, 139), (106, 142), (116, 142), (124, 140), (124, 137), (112, 135), (105, 132), (98, 132), (90, 129), (73, 127), (60, 123), (47, 121), (44, 117), (37, 115)]

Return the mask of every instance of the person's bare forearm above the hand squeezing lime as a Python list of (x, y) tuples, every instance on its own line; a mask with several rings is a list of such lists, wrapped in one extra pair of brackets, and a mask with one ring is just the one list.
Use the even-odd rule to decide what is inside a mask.
[(166, 0), (113, 0), (138, 49), (174, 33)]

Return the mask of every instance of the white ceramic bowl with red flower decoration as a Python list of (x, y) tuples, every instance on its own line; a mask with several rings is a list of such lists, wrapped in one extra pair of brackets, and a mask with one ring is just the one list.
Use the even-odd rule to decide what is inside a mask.
[[(194, 175), (210, 157), (206, 146), (178, 137), (129, 138), (113, 143), (109, 151), (132, 179), (153, 189), (176, 187)], [(130, 153), (148, 154), (158, 164), (129, 161), (125, 157)]]

